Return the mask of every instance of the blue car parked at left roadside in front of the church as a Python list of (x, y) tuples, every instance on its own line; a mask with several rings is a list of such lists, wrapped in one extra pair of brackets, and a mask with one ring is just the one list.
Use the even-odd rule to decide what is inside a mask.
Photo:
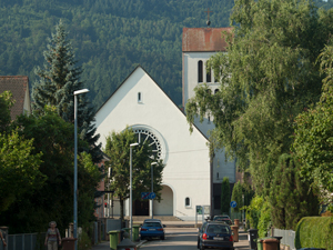
[(160, 238), (165, 239), (164, 228), (167, 226), (162, 224), (159, 219), (147, 219), (140, 228), (140, 239), (144, 240), (147, 238)]

